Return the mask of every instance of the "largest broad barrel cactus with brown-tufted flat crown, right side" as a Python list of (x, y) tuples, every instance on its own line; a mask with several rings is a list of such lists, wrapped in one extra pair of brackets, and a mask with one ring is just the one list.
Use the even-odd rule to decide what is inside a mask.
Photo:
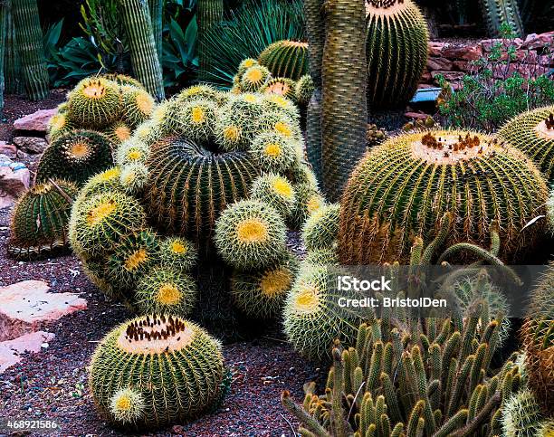
[(517, 149), (463, 131), (391, 138), (360, 162), (341, 201), (339, 256), (346, 264), (406, 262), (410, 239), (429, 242), (445, 212), (454, 214), (446, 245), (489, 242), (500, 223), (501, 259), (513, 260), (545, 232), (548, 189)]

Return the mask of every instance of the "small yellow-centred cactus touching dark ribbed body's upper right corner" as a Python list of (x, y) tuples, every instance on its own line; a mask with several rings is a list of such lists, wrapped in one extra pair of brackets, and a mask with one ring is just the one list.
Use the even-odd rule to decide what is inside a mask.
[(277, 133), (264, 132), (253, 139), (250, 151), (265, 172), (282, 173), (291, 168), (298, 142)]

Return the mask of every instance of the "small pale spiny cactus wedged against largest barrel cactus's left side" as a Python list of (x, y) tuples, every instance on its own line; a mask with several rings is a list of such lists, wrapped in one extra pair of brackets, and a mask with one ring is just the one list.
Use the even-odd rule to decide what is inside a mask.
[(302, 226), (302, 241), (308, 251), (336, 245), (339, 233), (339, 204), (328, 204), (310, 215)]

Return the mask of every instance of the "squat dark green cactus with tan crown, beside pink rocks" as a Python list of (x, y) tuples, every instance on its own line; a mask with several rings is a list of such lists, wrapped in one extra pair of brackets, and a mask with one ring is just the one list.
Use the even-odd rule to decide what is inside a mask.
[(91, 130), (61, 135), (44, 150), (35, 180), (41, 184), (59, 177), (83, 185), (91, 176), (113, 166), (111, 147), (110, 139)]

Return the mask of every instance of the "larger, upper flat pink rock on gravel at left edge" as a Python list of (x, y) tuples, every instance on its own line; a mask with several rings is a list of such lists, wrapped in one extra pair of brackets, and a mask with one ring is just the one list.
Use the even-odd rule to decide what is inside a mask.
[(67, 314), (87, 309), (74, 293), (51, 293), (42, 280), (24, 280), (0, 288), (0, 340), (33, 332)]

